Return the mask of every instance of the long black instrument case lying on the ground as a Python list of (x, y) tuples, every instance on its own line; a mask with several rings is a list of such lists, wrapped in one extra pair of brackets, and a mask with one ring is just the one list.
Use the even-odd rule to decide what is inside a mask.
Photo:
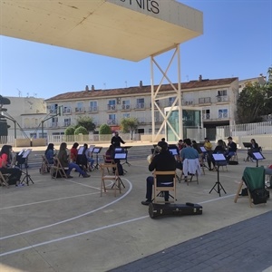
[(202, 206), (199, 204), (155, 204), (151, 203), (149, 206), (149, 213), (151, 219), (160, 216), (182, 216), (182, 215), (198, 215), (202, 214)]

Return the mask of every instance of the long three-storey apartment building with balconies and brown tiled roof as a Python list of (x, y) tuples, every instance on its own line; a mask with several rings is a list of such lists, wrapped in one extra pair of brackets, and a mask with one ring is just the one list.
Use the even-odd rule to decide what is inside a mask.
[[(238, 78), (209, 80), (201, 75), (199, 80), (181, 83), (182, 105), (202, 108), (203, 125), (210, 139), (215, 139), (216, 126), (235, 123), (238, 85)], [(157, 102), (163, 110), (172, 105), (174, 98), (170, 95), (175, 91), (170, 84), (163, 84), (160, 93), (169, 97)], [(44, 122), (48, 135), (63, 134), (65, 128), (84, 115), (92, 117), (97, 127), (107, 123), (112, 130), (120, 129), (122, 118), (135, 117), (140, 121), (138, 133), (151, 133), (151, 86), (141, 82), (139, 86), (110, 90), (86, 86), (84, 91), (61, 93), (45, 102), (47, 113), (52, 116)], [(155, 111), (156, 130), (162, 120), (160, 112)]]

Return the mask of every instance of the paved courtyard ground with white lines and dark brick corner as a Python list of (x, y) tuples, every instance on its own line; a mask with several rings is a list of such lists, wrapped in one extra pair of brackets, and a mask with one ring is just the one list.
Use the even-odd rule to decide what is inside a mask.
[[(271, 163), (272, 152), (264, 154), (267, 160), (260, 165)], [(253, 208), (246, 197), (233, 201), (244, 168), (255, 163), (241, 156), (238, 165), (220, 171), (227, 192), (221, 197), (209, 193), (216, 172), (206, 170), (199, 185), (179, 183), (178, 203), (199, 203), (202, 215), (151, 219), (141, 205), (148, 163), (130, 162), (116, 198), (112, 191), (100, 197), (99, 170), (89, 179), (73, 172), (71, 180), (52, 180), (30, 167), (34, 184), (0, 188), (0, 271), (262, 271), (272, 266), (271, 199)]]

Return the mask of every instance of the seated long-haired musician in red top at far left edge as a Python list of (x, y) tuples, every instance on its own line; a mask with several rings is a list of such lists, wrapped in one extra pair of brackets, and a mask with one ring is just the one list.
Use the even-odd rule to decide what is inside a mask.
[(21, 184), (22, 170), (19, 168), (10, 168), (10, 157), (12, 153), (11, 145), (4, 145), (0, 151), (0, 171), (2, 174), (10, 174), (8, 178), (9, 185), (15, 184), (16, 187), (24, 186)]

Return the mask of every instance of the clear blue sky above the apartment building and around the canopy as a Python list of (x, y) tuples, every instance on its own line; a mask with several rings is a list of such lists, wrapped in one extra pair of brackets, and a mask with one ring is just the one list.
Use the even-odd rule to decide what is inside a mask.
[[(169, 1), (169, 0), (164, 0)], [(180, 44), (181, 82), (267, 74), (272, 66), (272, 0), (178, 2), (203, 13), (204, 33)], [(167, 65), (171, 53), (160, 56)], [(135, 63), (0, 36), (0, 94), (48, 99), (63, 92), (151, 84), (150, 58)], [(173, 75), (173, 74), (175, 75)], [(169, 76), (176, 78), (170, 70)], [(155, 79), (160, 83), (160, 76)]]

